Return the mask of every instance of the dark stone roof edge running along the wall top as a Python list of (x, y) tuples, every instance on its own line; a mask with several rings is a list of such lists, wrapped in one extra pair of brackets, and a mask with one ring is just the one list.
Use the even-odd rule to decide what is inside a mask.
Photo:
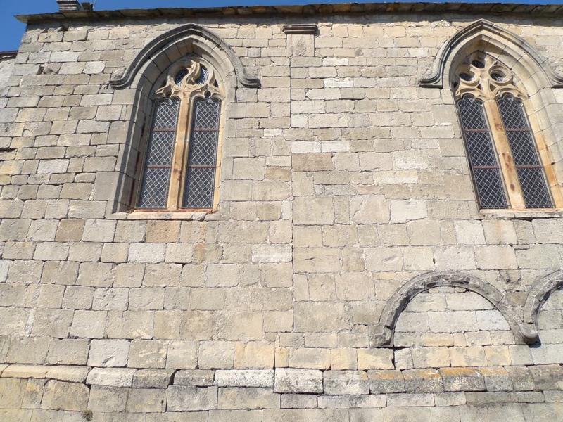
[(309, 4), (305, 6), (241, 6), (217, 8), (153, 8), (122, 9), (116, 11), (63, 11), (17, 15), (23, 23), (46, 23), (61, 20), (119, 20), (132, 18), (182, 18), (186, 16), (205, 17), (214, 15), (331, 15), (366, 13), (460, 13), (467, 15), (520, 14), (555, 18), (563, 15), (561, 4), (498, 4), (498, 3), (346, 3)]

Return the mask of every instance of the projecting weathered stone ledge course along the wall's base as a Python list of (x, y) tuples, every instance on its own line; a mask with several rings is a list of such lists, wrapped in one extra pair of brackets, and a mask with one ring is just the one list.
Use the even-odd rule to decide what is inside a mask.
[[(563, 367), (450, 367), (369, 371), (317, 369), (133, 369), (87, 366), (0, 364), (0, 378), (53, 379), (87, 385), (127, 388), (264, 388), (279, 394), (393, 395), (455, 392), (505, 393), (563, 390)], [(481, 397), (474, 395), (471, 397)], [(486, 397), (486, 396), (483, 396)], [(513, 401), (513, 400), (512, 400)]]

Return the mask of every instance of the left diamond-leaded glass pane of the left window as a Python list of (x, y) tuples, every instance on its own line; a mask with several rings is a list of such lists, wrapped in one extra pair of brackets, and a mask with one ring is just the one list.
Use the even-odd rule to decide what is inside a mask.
[(148, 141), (140, 208), (165, 208), (170, 184), (179, 101), (158, 101)]

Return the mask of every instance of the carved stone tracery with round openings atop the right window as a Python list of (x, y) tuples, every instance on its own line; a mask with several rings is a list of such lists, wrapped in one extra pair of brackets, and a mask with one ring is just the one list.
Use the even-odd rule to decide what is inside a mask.
[(507, 66), (485, 53), (473, 53), (455, 71), (455, 98), (471, 95), (482, 101), (511, 94), (524, 100), (524, 91)]

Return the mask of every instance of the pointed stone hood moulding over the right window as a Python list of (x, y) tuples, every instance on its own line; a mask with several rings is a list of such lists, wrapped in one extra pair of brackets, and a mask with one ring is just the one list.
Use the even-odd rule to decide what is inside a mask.
[(448, 62), (460, 49), (467, 48), (467, 45), (479, 44), (479, 42), (500, 48), (501, 51), (505, 51), (505, 55), (512, 56), (516, 62), (520, 62), (521, 66), (540, 68), (548, 86), (563, 87), (563, 75), (558, 75), (551, 68), (548, 59), (543, 57), (529, 42), (486, 19), (479, 19), (467, 25), (443, 44), (432, 63), (431, 70), (419, 78), (419, 87), (442, 88), (447, 86), (445, 70), (449, 68)]

